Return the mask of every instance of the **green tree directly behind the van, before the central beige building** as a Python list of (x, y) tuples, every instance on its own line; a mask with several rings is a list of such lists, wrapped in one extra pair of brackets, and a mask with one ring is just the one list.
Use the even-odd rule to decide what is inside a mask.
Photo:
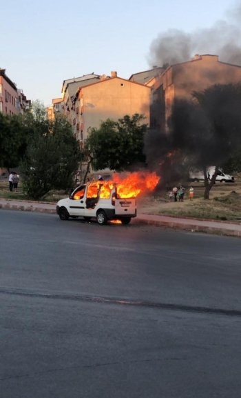
[(90, 129), (85, 142), (85, 155), (94, 170), (129, 170), (135, 163), (145, 162), (143, 153), (147, 124), (145, 117), (125, 115), (118, 121), (107, 119), (99, 128)]

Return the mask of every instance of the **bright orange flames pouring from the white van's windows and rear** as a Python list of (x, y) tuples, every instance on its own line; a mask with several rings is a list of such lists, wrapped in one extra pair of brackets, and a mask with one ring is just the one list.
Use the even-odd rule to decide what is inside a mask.
[(155, 172), (134, 172), (126, 177), (122, 177), (116, 173), (112, 181), (96, 181), (91, 183), (88, 188), (87, 197), (97, 197), (98, 192), (100, 192), (101, 199), (109, 199), (114, 184), (117, 184), (117, 198), (128, 199), (137, 197), (140, 193), (154, 190), (159, 180), (160, 177)]

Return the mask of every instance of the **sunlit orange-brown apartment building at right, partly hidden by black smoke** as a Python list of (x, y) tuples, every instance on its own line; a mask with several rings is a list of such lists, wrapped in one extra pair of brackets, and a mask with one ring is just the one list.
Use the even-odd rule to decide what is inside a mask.
[(193, 91), (213, 84), (241, 83), (241, 66), (219, 61), (218, 55), (196, 54), (191, 60), (169, 66), (151, 79), (151, 127), (163, 128), (175, 99), (191, 99)]

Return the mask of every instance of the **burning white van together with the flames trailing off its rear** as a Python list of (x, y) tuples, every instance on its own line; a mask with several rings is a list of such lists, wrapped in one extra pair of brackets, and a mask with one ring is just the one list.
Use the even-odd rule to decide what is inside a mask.
[(83, 217), (86, 221), (96, 218), (100, 225), (108, 220), (126, 225), (136, 217), (136, 197), (154, 189), (158, 181), (155, 173), (136, 172), (125, 179), (115, 175), (113, 181), (83, 184), (57, 203), (56, 212), (61, 220)]

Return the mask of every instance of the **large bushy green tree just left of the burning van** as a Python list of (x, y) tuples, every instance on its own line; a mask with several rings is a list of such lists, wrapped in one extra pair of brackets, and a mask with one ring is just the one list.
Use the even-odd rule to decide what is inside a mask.
[(23, 190), (36, 200), (52, 189), (72, 188), (80, 159), (80, 148), (66, 119), (36, 121), (21, 162)]

